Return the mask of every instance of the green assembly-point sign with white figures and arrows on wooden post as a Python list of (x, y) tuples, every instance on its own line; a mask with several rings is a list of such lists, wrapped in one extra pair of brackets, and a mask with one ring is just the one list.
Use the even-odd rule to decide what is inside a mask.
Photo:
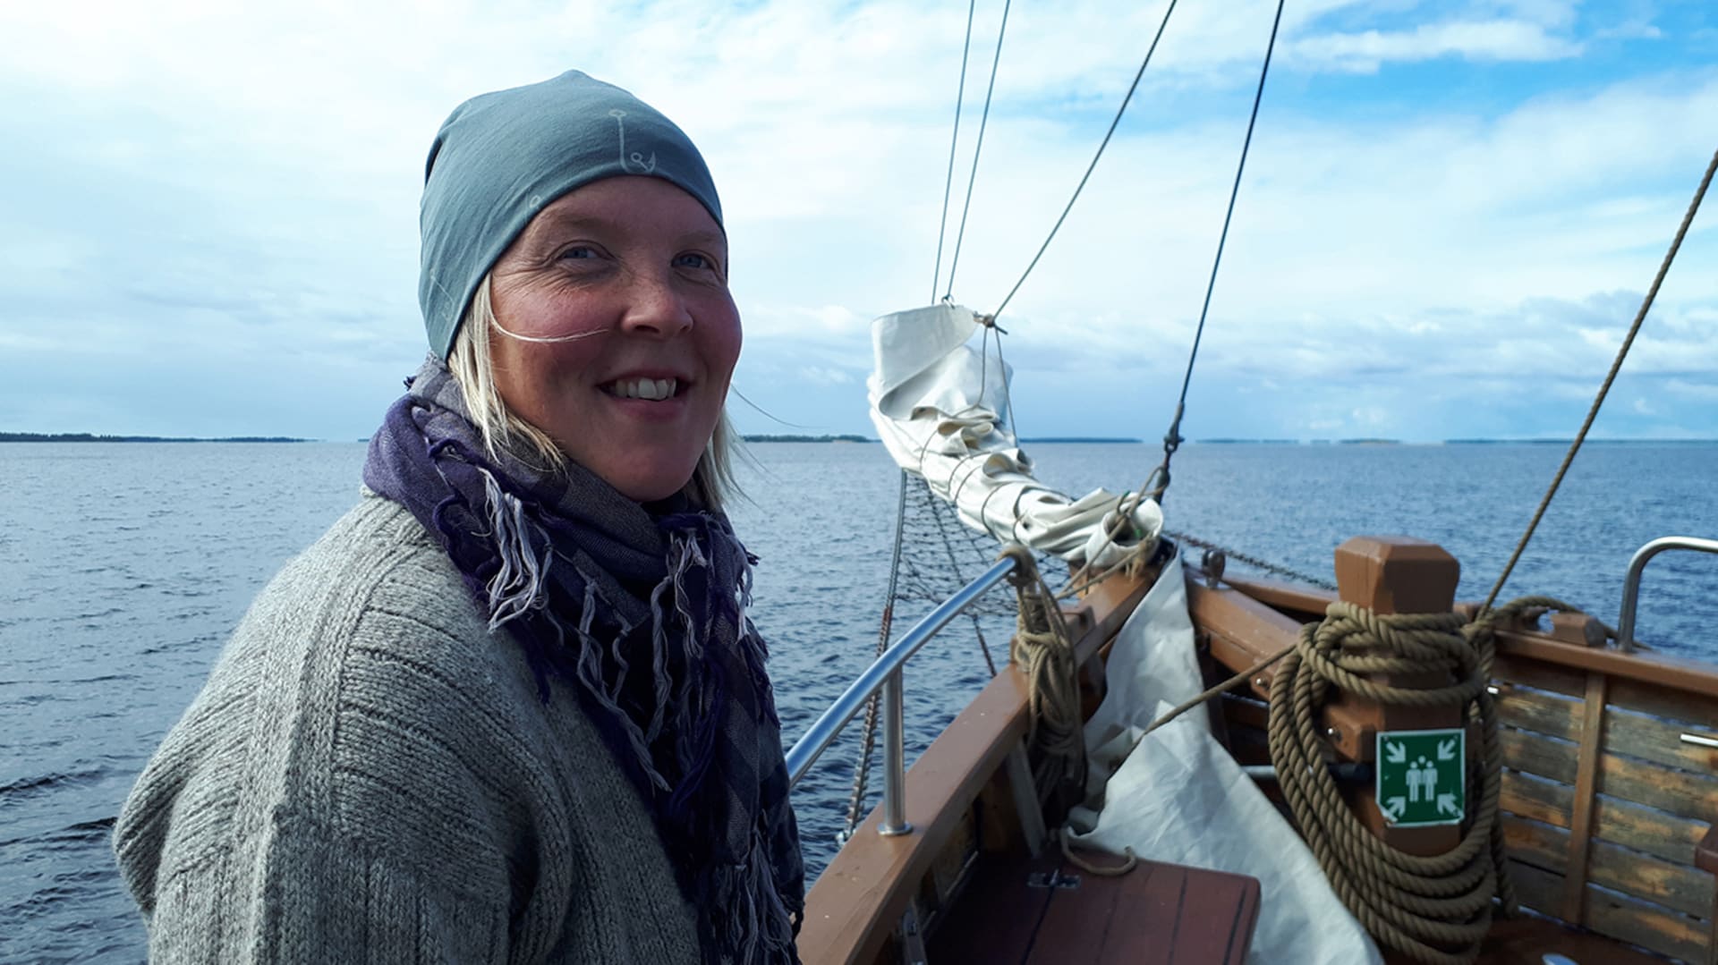
[(1459, 824), (1467, 812), (1467, 731), (1378, 735), (1378, 810), (1395, 828)]

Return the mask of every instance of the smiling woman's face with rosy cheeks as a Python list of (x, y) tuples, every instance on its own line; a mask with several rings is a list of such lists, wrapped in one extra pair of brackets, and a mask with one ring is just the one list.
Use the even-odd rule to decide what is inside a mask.
[[(728, 247), (710, 211), (655, 177), (579, 187), (491, 271), (507, 407), (637, 501), (692, 477), (740, 354)], [(527, 342), (526, 338), (569, 338)]]

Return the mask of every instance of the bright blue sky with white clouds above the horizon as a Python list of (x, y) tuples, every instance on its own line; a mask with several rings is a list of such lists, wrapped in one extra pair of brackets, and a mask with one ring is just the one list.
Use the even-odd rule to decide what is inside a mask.
[[(0, 429), (369, 434), (423, 354), (436, 125), (579, 67), (710, 160), (770, 414), (740, 428), (871, 434), (869, 319), (931, 294), (966, 3), (271, 7), (0, 7)], [(1179, 5), (1002, 319), (1022, 434), (1161, 434), (1273, 10)], [(957, 300), (1020, 275), (1161, 12), (1014, 3)], [(1715, 148), (1706, 2), (1290, 3), (1184, 433), (1569, 436)], [(1713, 206), (1601, 436), (1718, 438)]]

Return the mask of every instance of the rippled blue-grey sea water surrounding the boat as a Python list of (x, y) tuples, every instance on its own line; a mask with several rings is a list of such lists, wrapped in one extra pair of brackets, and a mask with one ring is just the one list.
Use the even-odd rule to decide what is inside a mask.
[[(756, 620), (797, 737), (871, 656), (897, 474), (878, 445), (754, 445), (735, 527), (763, 558)], [(1031, 446), (1072, 493), (1137, 484), (1144, 445)], [(0, 960), (141, 962), (143, 926), (113, 871), (113, 816), (256, 591), (357, 496), (364, 446), (0, 445)], [(1477, 599), (1508, 558), (1562, 450), (1187, 446), (1173, 529), (1309, 572), (1362, 532), (1435, 539)], [(1718, 536), (1718, 445), (1589, 446), (1505, 598), (1553, 592), (1615, 620), (1648, 539)], [(1648, 572), (1639, 635), (1718, 659), (1718, 558)], [(897, 627), (911, 613), (897, 616)], [(1005, 646), (991, 635), (991, 647)], [(917, 747), (984, 680), (971, 632), (909, 673)], [(854, 738), (795, 793), (807, 859), (832, 852)]]

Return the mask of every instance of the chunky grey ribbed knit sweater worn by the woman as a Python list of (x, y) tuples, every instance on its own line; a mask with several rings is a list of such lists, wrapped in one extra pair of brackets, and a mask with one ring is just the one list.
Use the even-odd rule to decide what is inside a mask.
[(251, 606), (113, 847), (155, 962), (698, 960), (577, 701), (375, 495)]

